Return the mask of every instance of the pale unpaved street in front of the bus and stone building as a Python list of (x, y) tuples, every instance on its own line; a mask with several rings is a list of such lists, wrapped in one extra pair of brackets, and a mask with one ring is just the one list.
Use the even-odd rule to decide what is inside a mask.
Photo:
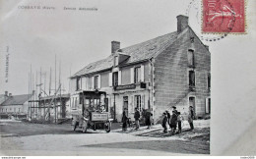
[[(177, 155), (209, 154), (209, 120), (195, 121), (194, 132), (169, 136), (160, 125), (151, 130), (109, 133), (71, 131), (70, 125), (0, 122), (4, 155)], [(188, 126), (184, 125), (186, 131)]]

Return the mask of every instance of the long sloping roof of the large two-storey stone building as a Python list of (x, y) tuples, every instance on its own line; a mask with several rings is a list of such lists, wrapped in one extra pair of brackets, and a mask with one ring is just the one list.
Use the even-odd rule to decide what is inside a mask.
[[(173, 43), (177, 35), (177, 31), (174, 31), (139, 44), (119, 49), (120, 54), (130, 56), (130, 58), (123, 64), (131, 64), (154, 57), (154, 55), (158, 54), (162, 49)], [(92, 74), (112, 68), (114, 56), (115, 54), (111, 54), (105, 59), (89, 64), (88, 66), (74, 74), (71, 78)]]

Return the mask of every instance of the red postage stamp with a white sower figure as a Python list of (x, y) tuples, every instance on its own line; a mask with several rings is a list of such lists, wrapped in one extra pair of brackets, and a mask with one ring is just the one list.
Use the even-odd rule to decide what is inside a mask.
[(203, 32), (245, 32), (244, 0), (203, 0)]

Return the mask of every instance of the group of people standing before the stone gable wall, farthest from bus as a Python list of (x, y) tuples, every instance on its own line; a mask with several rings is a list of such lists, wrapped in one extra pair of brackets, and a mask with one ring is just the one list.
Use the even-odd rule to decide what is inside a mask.
[[(178, 126), (178, 131), (181, 132), (181, 122), (182, 122), (182, 116), (180, 115), (180, 112), (176, 110), (175, 106), (172, 106), (172, 114), (168, 111), (165, 111), (162, 113), (162, 122), (161, 126), (163, 128), (163, 132), (167, 132), (167, 125), (170, 128), (170, 132), (174, 133), (176, 132), (176, 128)], [(193, 107), (189, 107), (189, 114), (188, 114), (188, 123), (190, 125), (190, 129), (194, 130), (194, 125), (193, 125), (193, 119), (194, 119), (194, 110)]]

